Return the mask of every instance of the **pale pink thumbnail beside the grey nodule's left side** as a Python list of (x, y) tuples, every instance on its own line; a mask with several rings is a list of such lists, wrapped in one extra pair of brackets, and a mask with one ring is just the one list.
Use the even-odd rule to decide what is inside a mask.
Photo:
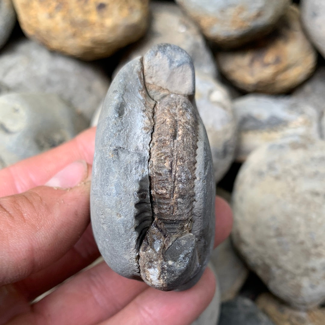
[(77, 160), (64, 167), (59, 173), (47, 181), (45, 185), (50, 187), (71, 188), (83, 181), (87, 175), (87, 162), (84, 160)]

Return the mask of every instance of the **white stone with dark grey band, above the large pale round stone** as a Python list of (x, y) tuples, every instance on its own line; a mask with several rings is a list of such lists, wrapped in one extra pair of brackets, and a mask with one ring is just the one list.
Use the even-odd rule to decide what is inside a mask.
[(233, 109), (238, 121), (237, 161), (274, 140), (320, 138), (317, 111), (290, 96), (248, 94), (235, 99)]

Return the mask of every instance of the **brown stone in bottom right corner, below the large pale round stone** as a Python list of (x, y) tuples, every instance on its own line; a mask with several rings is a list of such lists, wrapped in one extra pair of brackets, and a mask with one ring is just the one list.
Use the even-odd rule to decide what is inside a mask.
[(301, 311), (290, 308), (272, 294), (262, 293), (256, 305), (268, 315), (275, 325), (323, 325), (325, 308)]

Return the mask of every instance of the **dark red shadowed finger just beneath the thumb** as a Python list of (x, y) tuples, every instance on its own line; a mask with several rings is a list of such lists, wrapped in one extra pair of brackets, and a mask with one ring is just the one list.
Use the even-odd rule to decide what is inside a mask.
[(15, 283), (15, 286), (27, 301), (32, 301), (88, 266), (99, 256), (91, 225), (88, 225), (81, 238), (58, 261)]

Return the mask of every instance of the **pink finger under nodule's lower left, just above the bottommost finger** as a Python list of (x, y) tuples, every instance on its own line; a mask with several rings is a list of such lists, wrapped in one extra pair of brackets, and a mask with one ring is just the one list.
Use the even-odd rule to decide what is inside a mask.
[(123, 278), (102, 262), (63, 283), (9, 324), (97, 324), (147, 288), (144, 282)]

